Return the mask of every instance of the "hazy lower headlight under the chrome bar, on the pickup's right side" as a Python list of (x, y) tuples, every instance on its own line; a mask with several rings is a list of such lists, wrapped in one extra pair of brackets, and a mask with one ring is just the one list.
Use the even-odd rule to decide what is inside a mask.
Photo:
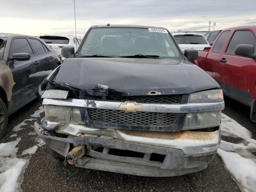
[(182, 130), (200, 129), (220, 125), (221, 110), (194, 112), (186, 114), (186, 121)]

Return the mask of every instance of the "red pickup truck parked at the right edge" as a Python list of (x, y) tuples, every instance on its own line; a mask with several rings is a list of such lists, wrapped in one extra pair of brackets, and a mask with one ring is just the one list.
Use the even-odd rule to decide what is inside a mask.
[(209, 52), (198, 51), (194, 64), (212, 76), (226, 96), (249, 106), (256, 122), (256, 26), (223, 30)]

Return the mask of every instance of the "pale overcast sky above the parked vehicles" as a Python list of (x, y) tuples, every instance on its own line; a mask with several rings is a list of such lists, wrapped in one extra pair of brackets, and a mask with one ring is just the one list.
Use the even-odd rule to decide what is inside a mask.
[[(256, 0), (75, 0), (77, 36), (92, 25), (139, 24), (194, 31), (256, 25)], [(0, 32), (74, 35), (73, 0), (0, 0)], [(213, 30), (213, 26), (211, 26)]]

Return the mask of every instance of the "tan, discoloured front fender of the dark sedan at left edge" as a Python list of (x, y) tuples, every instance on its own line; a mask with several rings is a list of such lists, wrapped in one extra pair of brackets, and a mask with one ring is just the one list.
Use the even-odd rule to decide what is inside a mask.
[(10, 101), (12, 97), (12, 87), (14, 86), (12, 71), (10, 68), (0, 61), (0, 86), (6, 92), (7, 100)]

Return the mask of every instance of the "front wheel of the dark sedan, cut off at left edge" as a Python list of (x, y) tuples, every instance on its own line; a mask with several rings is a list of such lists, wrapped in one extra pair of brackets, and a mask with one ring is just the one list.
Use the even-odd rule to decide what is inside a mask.
[(0, 140), (3, 138), (7, 130), (8, 124), (8, 112), (6, 105), (3, 100), (0, 98)]

